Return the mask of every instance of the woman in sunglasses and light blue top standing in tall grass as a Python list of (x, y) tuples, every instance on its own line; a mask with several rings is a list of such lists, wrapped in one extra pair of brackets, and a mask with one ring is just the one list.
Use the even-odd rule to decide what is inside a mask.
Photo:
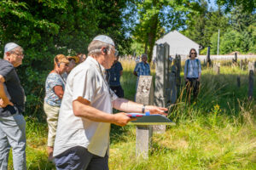
[(195, 48), (191, 48), (189, 52), (189, 58), (185, 62), (184, 66), (184, 79), (187, 90), (187, 98), (191, 98), (193, 91), (193, 98), (197, 99), (199, 93), (199, 85), (201, 81), (201, 61), (195, 59), (197, 57)]

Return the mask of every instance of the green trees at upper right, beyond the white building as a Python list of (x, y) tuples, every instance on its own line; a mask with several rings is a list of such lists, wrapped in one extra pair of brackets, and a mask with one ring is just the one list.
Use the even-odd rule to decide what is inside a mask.
[(207, 54), (207, 47), (211, 47), (211, 54), (217, 54), (218, 29), (220, 30), (219, 54), (230, 54), (239, 51), (242, 54), (255, 53), (255, 17), (250, 10), (244, 10), (242, 5), (224, 14), (220, 8), (195, 14), (183, 33), (200, 43), (205, 49), (201, 54)]

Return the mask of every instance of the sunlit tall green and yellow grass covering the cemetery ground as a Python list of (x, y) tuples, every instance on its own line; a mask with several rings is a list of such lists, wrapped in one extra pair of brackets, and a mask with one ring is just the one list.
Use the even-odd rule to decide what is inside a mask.
[[(125, 98), (133, 100), (135, 63), (123, 61), (122, 65)], [(164, 134), (154, 134), (146, 161), (135, 157), (135, 127), (113, 125), (110, 169), (256, 169), (256, 105), (247, 100), (247, 71), (223, 66), (220, 72), (214, 75), (212, 69), (203, 68), (197, 103), (187, 105), (183, 97), (178, 99), (179, 105), (169, 115), (177, 125), (166, 127)], [(237, 76), (241, 88), (236, 86)], [(255, 88), (253, 93), (256, 97)], [(26, 116), (26, 138), (28, 169), (55, 169), (47, 161), (46, 122)]]

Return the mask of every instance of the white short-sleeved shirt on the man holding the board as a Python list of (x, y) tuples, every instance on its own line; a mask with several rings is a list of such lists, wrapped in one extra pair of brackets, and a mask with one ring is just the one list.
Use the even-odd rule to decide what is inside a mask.
[(93, 122), (73, 114), (73, 100), (79, 97), (89, 100), (92, 107), (112, 114), (112, 101), (118, 97), (103, 79), (103, 71), (104, 67), (89, 56), (68, 75), (56, 131), (54, 156), (74, 146), (83, 146), (97, 156), (106, 155), (110, 123)]

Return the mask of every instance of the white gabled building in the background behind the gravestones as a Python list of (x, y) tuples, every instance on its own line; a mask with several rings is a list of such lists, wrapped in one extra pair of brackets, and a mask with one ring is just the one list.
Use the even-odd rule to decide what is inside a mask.
[[(189, 50), (195, 48), (197, 54), (199, 54), (199, 49), (201, 45), (190, 40), (188, 37), (185, 37), (183, 34), (178, 31), (170, 31), (165, 36), (161, 37), (155, 43), (165, 43), (167, 42), (170, 45), (170, 55), (174, 57), (175, 54), (180, 55), (189, 55)], [(156, 56), (156, 46), (153, 49), (153, 58)]]

